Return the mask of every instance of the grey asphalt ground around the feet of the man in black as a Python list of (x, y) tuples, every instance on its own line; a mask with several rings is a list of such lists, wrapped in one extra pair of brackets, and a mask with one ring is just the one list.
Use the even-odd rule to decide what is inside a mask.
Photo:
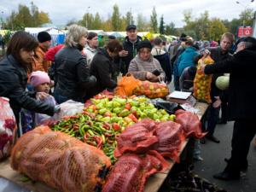
[(204, 160), (195, 162), (194, 172), (228, 192), (256, 192), (256, 148), (253, 143), (247, 157), (249, 166), (246, 176), (236, 181), (220, 181), (212, 177), (213, 174), (224, 170), (224, 158), (230, 158), (232, 131), (233, 122), (217, 125), (214, 135), (220, 143), (207, 140), (207, 143), (201, 144), (201, 157)]

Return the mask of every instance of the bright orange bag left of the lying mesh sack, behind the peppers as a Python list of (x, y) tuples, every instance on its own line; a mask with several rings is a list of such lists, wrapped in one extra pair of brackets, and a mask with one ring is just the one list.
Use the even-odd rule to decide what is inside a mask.
[(119, 80), (114, 95), (116, 96), (131, 96), (132, 91), (138, 86), (140, 80), (135, 79), (132, 74), (128, 73)]

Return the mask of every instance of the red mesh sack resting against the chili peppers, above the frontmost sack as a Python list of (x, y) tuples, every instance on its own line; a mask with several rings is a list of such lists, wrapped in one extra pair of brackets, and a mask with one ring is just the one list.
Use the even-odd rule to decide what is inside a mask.
[(125, 128), (119, 137), (116, 137), (118, 147), (114, 150), (114, 156), (119, 157), (126, 152), (145, 153), (158, 142), (154, 134), (155, 123), (153, 120), (144, 119), (140, 123)]

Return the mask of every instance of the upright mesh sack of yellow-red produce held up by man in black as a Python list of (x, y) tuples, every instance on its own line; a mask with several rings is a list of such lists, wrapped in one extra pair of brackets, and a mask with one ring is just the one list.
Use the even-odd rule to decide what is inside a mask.
[(212, 75), (207, 75), (201, 72), (202, 64), (211, 65), (214, 63), (210, 55), (207, 57), (202, 57), (201, 60), (198, 61), (197, 71), (194, 79), (194, 96), (198, 100), (203, 100), (208, 103), (211, 101), (211, 83), (212, 83)]

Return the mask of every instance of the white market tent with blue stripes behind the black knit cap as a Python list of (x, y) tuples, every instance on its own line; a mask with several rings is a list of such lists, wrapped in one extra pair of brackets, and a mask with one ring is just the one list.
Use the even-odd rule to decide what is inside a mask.
[(52, 45), (64, 44), (65, 32), (56, 27), (25, 27), (25, 32), (29, 32), (37, 38), (38, 32), (49, 32), (52, 38)]

